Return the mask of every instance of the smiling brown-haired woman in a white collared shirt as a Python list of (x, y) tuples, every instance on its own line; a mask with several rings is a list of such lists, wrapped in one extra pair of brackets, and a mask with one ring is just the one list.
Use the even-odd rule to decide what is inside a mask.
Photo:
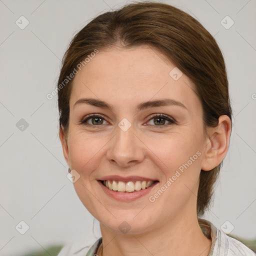
[(58, 79), (59, 137), (95, 243), (59, 255), (255, 255), (211, 222), (231, 132), (214, 38), (163, 3), (103, 13), (72, 39)]

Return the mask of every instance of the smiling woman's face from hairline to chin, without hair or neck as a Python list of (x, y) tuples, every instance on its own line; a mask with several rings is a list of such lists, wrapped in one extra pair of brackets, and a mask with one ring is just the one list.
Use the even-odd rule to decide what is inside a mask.
[[(104, 226), (140, 233), (196, 214), (206, 139), (192, 86), (146, 45), (99, 50), (75, 75), (64, 155), (77, 195)], [(110, 190), (106, 179), (138, 190)], [(143, 180), (157, 182), (142, 189)]]

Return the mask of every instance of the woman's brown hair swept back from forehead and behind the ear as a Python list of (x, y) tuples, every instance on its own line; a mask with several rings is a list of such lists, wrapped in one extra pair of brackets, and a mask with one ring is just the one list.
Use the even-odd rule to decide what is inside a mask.
[[(174, 63), (195, 85), (203, 108), (204, 126), (215, 127), (220, 115), (231, 119), (228, 81), (224, 59), (211, 34), (189, 14), (168, 4), (135, 2), (98, 15), (72, 39), (63, 59), (58, 84), (59, 125), (68, 132), (68, 86), (63, 81), (87, 55), (103, 48), (154, 46)], [(210, 171), (201, 170), (197, 194), (197, 215), (202, 215), (213, 194), (221, 163)]]

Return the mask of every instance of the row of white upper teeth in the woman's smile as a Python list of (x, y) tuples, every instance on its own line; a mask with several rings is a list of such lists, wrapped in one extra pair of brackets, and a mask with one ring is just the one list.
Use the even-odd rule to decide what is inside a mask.
[(153, 184), (153, 181), (139, 181), (136, 180), (135, 184), (132, 181), (123, 182), (123, 181), (115, 181), (115, 180), (104, 180), (104, 186), (107, 188), (118, 191), (118, 192), (133, 192), (134, 190), (138, 191), (140, 189), (145, 189)]

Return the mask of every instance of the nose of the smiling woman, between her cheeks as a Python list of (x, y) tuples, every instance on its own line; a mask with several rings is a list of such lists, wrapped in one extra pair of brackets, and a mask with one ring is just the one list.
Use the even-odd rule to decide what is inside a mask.
[(145, 145), (135, 134), (131, 125), (127, 130), (116, 127), (115, 134), (109, 141), (106, 156), (109, 161), (118, 166), (128, 167), (143, 161)]

